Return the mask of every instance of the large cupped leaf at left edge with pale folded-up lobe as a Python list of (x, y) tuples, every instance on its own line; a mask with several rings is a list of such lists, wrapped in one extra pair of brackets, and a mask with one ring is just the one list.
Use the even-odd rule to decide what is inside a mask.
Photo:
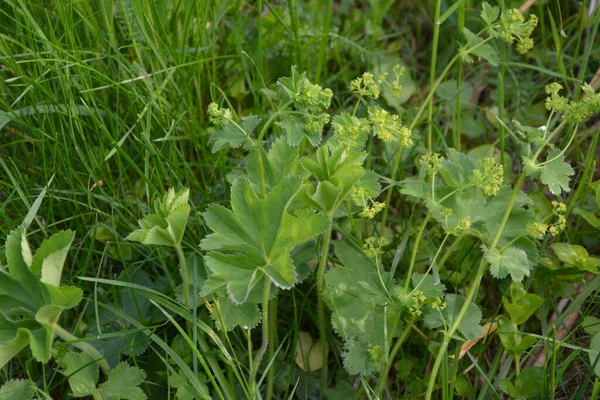
[(57, 233), (32, 255), (23, 226), (9, 233), (8, 272), (0, 270), (0, 368), (28, 345), (37, 361), (50, 360), (56, 321), (82, 298), (81, 289), (59, 286), (73, 237)]

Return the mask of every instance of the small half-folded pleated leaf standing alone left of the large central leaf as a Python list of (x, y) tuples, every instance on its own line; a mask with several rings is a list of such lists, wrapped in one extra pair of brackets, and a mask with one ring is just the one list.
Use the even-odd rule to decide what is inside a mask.
[(190, 191), (183, 189), (175, 193), (170, 188), (162, 200), (154, 200), (155, 213), (139, 220), (140, 229), (127, 236), (127, 240), (145, 245), (177, 246), (181, 243), (190, 215), (188, 204)]

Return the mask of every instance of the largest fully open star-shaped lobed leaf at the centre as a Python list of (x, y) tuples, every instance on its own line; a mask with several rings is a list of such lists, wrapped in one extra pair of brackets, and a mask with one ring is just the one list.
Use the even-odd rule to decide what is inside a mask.
[(211, 274), (203, 293), (225, 286), (232, 301), (243, 303), (261, 278), (259, 271), (281, 288), (296, 283), (290, 251), (329, 226), (323, 214), (288, 212), (301, 184), (300, 177), (287, 177), (260, 198), (250, 181), (240, 178), (231, 188), (232, 210), (209, 206), (203, 216), (213, 233), (200, 245), (209, 251), (205, 260)]

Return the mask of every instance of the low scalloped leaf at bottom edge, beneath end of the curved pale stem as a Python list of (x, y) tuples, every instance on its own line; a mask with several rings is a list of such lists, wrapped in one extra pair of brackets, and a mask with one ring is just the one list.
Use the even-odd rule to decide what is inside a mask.
[(145, 400), (139, 388), (146, 375), (137, 367), (120, 363), (108, 373), (105, 382), (98, 385), (98, 367), (85, 353), (69, 352), (61, 360), (63, 373), (69, 379), (73, 397), (92, 396), (94, 400)]

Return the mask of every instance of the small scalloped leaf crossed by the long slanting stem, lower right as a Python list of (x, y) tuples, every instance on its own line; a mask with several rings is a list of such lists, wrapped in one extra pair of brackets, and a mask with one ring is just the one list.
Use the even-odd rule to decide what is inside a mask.
[[(463, 296), (456, 294), (446, 295), (446, 307), (439, 311), (434, 308), (429, 308), (424, 317), (425, 326), (429, 329), (440, 327), (450, 327), (458, 318), (461, 308), (465, 304), (466, 299)], [(483, 335), (483, 329), (480, 325), (481, 310), (473, 303), (467, 306), (467, 312), (458, 325), (458, 331), (464, 339), (473, 340)]]

